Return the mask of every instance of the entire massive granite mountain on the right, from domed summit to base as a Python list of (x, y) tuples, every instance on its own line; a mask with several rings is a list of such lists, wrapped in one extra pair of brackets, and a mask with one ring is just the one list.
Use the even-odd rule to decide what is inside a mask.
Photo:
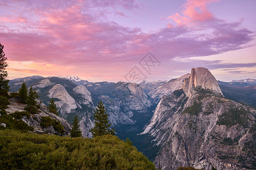
[(256, 168), (256, 110), (225, 99), (215, 81), (207, 69), (192, 69), (183, 89), (158, 103), (142, 134), (160, 147), (154, 162), (162, 169)]

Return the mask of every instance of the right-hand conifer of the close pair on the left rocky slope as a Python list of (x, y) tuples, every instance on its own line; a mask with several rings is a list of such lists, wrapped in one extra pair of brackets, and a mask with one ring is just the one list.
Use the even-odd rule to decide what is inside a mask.
[(26, 111), (35, 114), (38, 113), (38, 109), (36, 108), (36, 101), (35, 99), (38, 99), (38, 94), (35, 91), (35, 89), (33, 89), (32, 87), (30, 87), (30, 91), (28, 92), (28, 96), (27, 96), (27, 106), (26, 106)]

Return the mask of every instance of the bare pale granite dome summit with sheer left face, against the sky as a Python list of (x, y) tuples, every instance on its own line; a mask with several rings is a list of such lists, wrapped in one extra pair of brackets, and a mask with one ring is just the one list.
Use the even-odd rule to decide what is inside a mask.
[(201, 87), (204, 89), (212, 90), (216, 94), (222, 94), (220, 87), (218, 86), (217, 80), (210, 73), (210, 71), (204, 67), (192, 68), (191, 75), (185, 78), (183, 84), (183, 90), (187, 96), (191, 95), (192, 87)]

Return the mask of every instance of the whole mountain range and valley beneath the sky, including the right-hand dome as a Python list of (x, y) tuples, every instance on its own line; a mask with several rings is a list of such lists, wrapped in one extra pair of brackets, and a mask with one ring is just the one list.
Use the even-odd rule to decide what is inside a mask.
[(84, 137), (91, 137), (93, 110), (102, 100), (117, 136), (131, 139), (162, 169), (256, 168), (254, 79), (217, 82), (199, 67), (170, 81), (139, 84), (31, 76), (10, 80), (11, 92), (23, 82), (44, 104), (53, 98), (69, 122), (77, 115)]

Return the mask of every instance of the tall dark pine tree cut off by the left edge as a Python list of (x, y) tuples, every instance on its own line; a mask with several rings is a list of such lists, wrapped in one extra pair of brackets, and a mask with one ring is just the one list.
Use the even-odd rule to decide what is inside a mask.
[(9, 96), (8, 92), (10, 87), (8, 86), (9, 80), (7, 80), (8, 73), (5, 71), (7, 65), (5, 52), (3, 52), (3, 45), (0, 44), (0, 95)]

